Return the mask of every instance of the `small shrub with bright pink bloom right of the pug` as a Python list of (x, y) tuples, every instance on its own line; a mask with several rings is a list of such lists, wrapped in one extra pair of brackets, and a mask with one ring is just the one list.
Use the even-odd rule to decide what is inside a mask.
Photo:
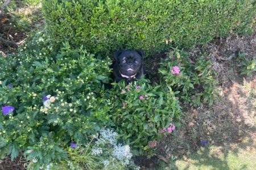
[(201, 103), (213, 104), (217, 95), (217, 74), (204, 56), (192, 63), (188, 53), (175, 49), (160, 64), (161, 84), (172, 88), (181, 101), (196, 107)]

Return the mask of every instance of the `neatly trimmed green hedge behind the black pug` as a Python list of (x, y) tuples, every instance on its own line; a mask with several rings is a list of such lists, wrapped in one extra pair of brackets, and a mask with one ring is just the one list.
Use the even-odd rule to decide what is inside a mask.
[[(121, 48), (147, 54), (191, 48), (234, 30), (247, 33), (255, 0), (44, 0), (46, 27), (53, 42), (68, 40), (92, 53)], [(166, 44), (166, 40), (170, 40)]]

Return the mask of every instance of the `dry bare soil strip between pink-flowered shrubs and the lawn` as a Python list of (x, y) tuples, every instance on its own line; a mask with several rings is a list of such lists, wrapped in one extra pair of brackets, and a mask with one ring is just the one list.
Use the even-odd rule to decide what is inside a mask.
[[(167, 162), (171, 156), (183, 155), (184, 160), (201, 146), (225, 145), (240, 147), (244, 137), (256, 148), (256, 75), (241, 76), (236, 58), (246, 53), (256, 56), (256, 35), (216, 39), (189, 53), (201, 54), (214, 64), (219, 79), (219, 97), (212, 107), (186, 107), (183, 125), (176, 134), (163, 139), (158, 146), (158, 158)], [(242, 145), (241, 145), (242, 146)]]

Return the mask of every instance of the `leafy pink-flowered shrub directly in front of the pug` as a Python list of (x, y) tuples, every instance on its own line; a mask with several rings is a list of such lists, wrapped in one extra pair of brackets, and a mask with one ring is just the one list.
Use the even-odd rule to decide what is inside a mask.
[(163, 135), (159, 131), (170, 127), (172, 121), (178, 125), (181, 111), (174, 92), (158, 84), (152, 86), (146, 79), (127, 86), (125, 82), (113, 83), (106, 97), (112, 103), (110, 119), (120, 139), (133, 147), (134, 155), (153, 154)]

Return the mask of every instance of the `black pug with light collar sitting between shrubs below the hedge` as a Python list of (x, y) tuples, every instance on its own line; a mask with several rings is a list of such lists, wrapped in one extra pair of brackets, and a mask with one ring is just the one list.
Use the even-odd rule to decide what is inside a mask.
[(145, 74), (143, 50), (117, 50), (114, 53), (113, 78), (115, 82), (124, 79), (126, 83), (139, 79)]

